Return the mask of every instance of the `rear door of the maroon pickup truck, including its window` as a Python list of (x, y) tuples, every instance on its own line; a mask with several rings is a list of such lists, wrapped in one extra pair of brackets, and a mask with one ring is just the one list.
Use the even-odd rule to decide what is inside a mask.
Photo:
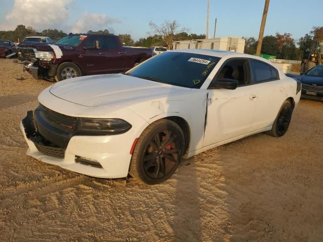
[(126, 53), (116, 36), (103, 36), (106, 73), (120, 73), (124, 71)]

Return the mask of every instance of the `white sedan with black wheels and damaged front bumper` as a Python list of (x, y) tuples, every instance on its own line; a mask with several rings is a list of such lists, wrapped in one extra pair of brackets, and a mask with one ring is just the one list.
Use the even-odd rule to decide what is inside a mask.
[(301, 84), (266, 59), (167, 51), (126, 74), (46, 88), (22, 120), (27, 154), (102, 178), (170, 178), (182, 158), (267, 132), (283, 136)]

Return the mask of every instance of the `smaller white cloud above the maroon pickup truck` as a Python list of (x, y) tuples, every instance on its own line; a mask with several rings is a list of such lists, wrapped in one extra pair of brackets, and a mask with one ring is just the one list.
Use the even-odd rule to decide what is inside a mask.
[(81, 18), (74, 24), (73, 33), (86, 33), (88, 30), (97, 31), (107, 29), (114, 32), (112, 27), (107, 27), (114, 23), (121, 23), (120, 19), (111, 18), (105, 14), (90, 14), (85, 12)]

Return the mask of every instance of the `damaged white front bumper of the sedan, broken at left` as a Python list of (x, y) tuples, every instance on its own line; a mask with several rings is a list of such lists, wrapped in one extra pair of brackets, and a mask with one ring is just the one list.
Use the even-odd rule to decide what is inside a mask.
[(125, 134), (73, 136), (67, 147), (62, 148), (38, 133), (32, 111), (27, 112), (20, 128), (28, 144), (27, 155), (37, 160), (99, 178), (121, 178), (128, 175), (131, 155), (120, 145), (130, 140)]

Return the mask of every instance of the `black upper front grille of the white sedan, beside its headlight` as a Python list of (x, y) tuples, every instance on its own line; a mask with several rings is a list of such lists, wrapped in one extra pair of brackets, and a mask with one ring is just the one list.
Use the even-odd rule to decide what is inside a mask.
[(39, 111), (44, 114), (48, 122), (52, 125), (55, 125), (63, 130), (74, 131), (77, 122), (76, 117), (58, 113), (56, 111), (50, 110), (49, 108), (41, 104), (39, 104), (39, 108)]

